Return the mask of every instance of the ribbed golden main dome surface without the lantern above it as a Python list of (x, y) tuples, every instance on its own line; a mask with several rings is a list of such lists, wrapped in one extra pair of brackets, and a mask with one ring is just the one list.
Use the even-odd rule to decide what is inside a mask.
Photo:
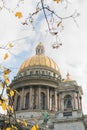
[(60, 73), (57, 64), (51, 58), (45, 55), (35, 55), (35, 56), (32, 56), (31, 58), (28, 58), (27, 60), (24, 61), (24, 63), (19, 68), (19, 72), (30, 66), (49, 67)]

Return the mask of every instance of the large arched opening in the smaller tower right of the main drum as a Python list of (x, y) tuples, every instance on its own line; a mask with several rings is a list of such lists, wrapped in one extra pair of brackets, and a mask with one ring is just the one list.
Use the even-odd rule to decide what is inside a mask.
[(66, 95), (64, 97), (64, 109), (72, 108), (72, 97), (70, 95)]

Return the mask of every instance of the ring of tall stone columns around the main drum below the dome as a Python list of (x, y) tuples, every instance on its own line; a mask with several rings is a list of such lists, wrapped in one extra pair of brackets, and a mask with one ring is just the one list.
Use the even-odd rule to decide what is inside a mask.
[[(28, 109), (57, 111), (57, 92), (54, 88), (48, 86), (30, 86), (27, 89), (22, 88), (19, 93), (20, 95), (15, 95), (14, 100), (14, 107), (16, 110), (25, 109), (26, 94), (29, 93), (29, 99), (27, 100), (29, 101)], [(54, 98), (53, 100), (52, 96)], [(18, 97), (20, 97), (20, 101), (18, 101)]]

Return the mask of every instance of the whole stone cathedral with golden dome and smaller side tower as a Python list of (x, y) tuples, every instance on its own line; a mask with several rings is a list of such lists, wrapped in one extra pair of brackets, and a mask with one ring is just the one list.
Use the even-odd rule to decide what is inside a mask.
[[(36, 54), (20, 66), (10, 87), (15, 95), (14, 108), (17, 118), (38, 119), (40, 130), (86, 130), (87, 116), (82, 112), (82, 88), (67, 73), (63, 80), (59, 67), (45, 55), (42, 43)], [(48, 119), (43, 120), (43, 114)]]

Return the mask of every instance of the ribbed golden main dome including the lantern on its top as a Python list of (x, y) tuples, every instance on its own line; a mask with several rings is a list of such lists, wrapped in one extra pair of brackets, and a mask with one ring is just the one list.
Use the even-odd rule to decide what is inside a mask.
[(45, 49), (42, 43), (39, 43), (36, 47), (36, 55), (26, 59), (19, 68), (19, 72), (29, 67), (39, 66), (53, 69), (60, 74), (60, 70), (57, 64), (48, 56), (44, 55)]

